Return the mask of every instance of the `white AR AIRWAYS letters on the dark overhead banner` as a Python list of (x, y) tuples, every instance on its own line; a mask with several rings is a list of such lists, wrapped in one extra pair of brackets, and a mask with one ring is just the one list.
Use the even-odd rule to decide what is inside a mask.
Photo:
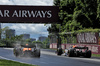
[[(0, 15), (3, 17), (2, 12), (0, 11)], [(9, 11), (5, 11), (5, 17), (9, 17)], [(15, 10), (12, 14), (12, 17), (40, 17), (40, 18), (51, 18), (51, 11), (29, 11), (29, 10)]]

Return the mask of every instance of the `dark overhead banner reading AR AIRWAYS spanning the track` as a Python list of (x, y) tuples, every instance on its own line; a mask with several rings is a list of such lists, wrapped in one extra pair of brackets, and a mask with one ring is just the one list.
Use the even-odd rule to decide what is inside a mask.
[(57, 23), (57, 6), (15, 6), (0, 5), (0, 22)]

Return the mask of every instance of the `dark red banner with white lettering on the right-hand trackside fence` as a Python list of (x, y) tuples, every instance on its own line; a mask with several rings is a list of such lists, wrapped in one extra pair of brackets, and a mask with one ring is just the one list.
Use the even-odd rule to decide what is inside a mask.
[(77, 34), (77, 43), (80, 44), (98, 44), (98, 33), (79, 33)]

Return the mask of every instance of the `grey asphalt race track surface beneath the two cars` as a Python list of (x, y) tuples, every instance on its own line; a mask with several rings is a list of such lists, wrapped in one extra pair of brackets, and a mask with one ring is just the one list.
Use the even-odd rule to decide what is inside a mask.
[(100, 66), (100, 59), (57, 56), (53, 51), (42, 49), (40, 58), (13, 55), (13, 49), (0, 48), (0, 59), (13, 60), (39, 66)]

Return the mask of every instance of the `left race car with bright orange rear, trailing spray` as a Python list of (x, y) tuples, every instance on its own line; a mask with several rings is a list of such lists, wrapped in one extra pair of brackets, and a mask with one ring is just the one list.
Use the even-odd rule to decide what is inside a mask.
[(40, 57), (40, 49), (36, 46), (26, 45), (17, 45), (13, 53), (16, 57)]

